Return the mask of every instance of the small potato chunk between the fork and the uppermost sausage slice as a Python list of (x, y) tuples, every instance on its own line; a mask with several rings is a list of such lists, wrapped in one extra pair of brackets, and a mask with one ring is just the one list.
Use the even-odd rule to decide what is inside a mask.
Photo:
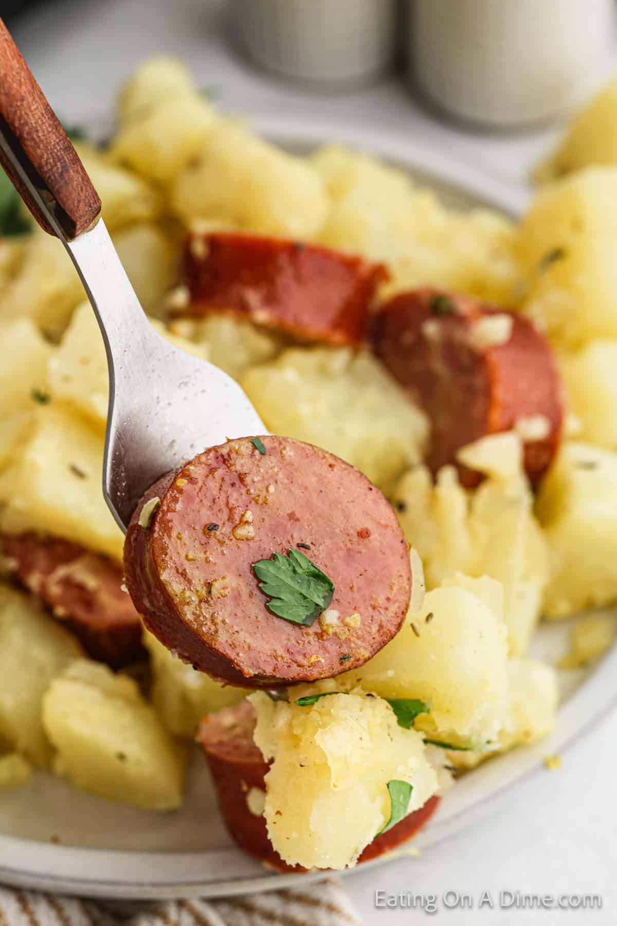
[(198, 321), (172, 321), (169, 331), (194, 342), (211, 363), (238, 381), (246, 369), (276, 357), (280, 350), (273, 332), (256, 328), (248, 319), (222, 312), (213, 312)]

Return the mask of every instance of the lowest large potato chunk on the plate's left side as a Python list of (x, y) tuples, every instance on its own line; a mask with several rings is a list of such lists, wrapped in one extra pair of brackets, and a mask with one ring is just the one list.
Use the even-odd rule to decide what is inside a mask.
[(126, 676), (74, 663), (44, 695), (43, 725), (56, 774), (78, 788), (132, 807), (182, 803), (185, 751)]

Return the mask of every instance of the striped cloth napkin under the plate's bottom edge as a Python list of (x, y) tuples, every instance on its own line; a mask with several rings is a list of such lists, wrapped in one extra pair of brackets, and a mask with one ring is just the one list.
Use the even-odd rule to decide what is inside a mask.
[(141, 904), (0, 887), (0, 926), (362, 926), (335, 879), (220, 900)]

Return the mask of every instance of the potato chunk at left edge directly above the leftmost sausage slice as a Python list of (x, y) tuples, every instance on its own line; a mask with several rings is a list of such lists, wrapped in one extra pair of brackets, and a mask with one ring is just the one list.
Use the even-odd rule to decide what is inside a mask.
[(104, 435), (52, 401), (3, 473), (0, 531), (38, 531), (122, 559), (124, 537), (101, 492)]

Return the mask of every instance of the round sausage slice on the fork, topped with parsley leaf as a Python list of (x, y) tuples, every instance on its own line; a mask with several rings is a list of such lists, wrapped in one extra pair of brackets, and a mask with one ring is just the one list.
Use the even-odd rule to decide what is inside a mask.
[[(160, 504), (142, 526), (153, 497)], [(290, 550), (334, 584), (311, 626), (273, 613), (276, 596), (253, 569), (275, 554), (295, 561)], [(412, 583), (407, 544), (376, 487), (325, 450), (271, 436), (212, 447), (156, 483), (131, 520), (125, 574), (161, 643), (245, 687), (363, 665), (399, 631)]]

